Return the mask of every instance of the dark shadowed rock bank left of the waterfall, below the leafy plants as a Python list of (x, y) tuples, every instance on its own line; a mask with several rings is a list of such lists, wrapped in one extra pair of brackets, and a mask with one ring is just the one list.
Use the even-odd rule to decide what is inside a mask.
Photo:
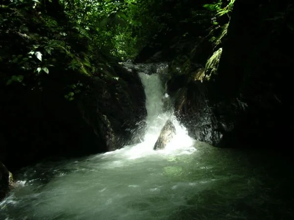
[[(50, 156), (96, 154), (136, 141), (134, 131), (147, 115), (136, 72), (113, 62), (92, 78), (62, 76), (51, 70), (43, 91), (14, 85), (0, 90), (0, 160), (9, 170)], [(77, 82), (81, 91), (68, 101), (64, 83)]]

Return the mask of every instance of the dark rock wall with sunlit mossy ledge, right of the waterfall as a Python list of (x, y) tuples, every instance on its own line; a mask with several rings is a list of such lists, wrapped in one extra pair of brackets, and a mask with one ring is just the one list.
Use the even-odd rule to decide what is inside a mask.
[(287, 146), (293, 18), (291, 1), (236, 0), (228, 24), (170, 62), (167, 91), (190, 136), (219, 147)]

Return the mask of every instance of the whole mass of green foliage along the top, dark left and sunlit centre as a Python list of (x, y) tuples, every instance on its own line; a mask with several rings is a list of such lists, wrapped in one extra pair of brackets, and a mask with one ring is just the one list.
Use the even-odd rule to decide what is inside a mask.
[[(181, 19), (181, 1), (173, 6), (175, 15), (162, 13), (166, 5), (164, 0), (7, 1), (0, 5), (2, 82), (43, 89), (50, 77), (68, 82), (72, 75), (102, 74), (109, 66), (102, 53), (132, 60), (158, 33), (166, 36), (171, 24)], [(201, 12), (189, 13), (191, 18), (183, 16), (181, 22), (202, 21)], [(78, 93), (67, 88), (64, 94), (73, 100)]]

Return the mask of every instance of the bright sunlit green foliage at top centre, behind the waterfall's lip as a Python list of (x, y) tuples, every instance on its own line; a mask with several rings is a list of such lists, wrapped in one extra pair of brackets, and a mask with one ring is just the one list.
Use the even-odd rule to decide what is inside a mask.
[[(88, 39), (96, 49), (111, 51), (122, 60), (134, 56), (130, 9), (136, 0), (61, 0), (69, 26)], [(123, 42), (122, 42), (123, 41)], [(134, 47), (133, 47), (134, 48)], [(123, 51), (123, 52), (121, 52)]]

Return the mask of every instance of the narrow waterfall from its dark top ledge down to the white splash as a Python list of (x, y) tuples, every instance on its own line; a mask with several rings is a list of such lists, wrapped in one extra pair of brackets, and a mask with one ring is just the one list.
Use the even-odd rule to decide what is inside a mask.
[(163, 154), (181, 153), (195, 151), (194, 139), (192, 139), (183, 125), (180, 125), (174, 115), (169, 95), (166, 93), (161, 79), (166, 78), (168, 66), (164, 63), (159, 64), (139, 64), (133, 65), (123, 63), (126, 68), (135, 68), (139, 72), (146, 94), (146, 131), (141, 137), (142, 143), (132, 147), (126, 146), (132, 157), (142, 156), (153, 152), (154, 144), (166, 121), (170, 119), (175, 126), (176, 135), (167, 144), (166, 149), (161, 151)]

